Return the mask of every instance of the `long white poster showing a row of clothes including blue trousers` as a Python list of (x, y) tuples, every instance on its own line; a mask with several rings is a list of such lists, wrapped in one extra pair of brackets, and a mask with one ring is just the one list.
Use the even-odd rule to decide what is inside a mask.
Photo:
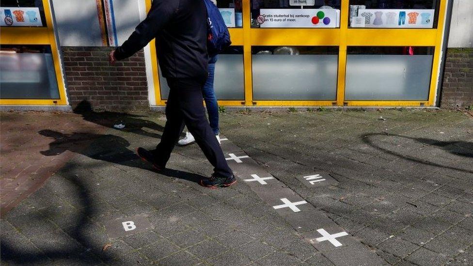
[[(351, 27), (432, 29), (434, 14), (434, 9), (359, 9)], [(364, 23), (354, 23), (361, 19)]]

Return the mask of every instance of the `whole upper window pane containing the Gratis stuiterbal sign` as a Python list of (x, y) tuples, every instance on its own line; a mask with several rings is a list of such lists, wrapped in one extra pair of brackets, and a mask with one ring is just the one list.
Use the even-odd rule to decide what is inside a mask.
[(252, 28), (339, 28), (341, 0), (251, 0)]

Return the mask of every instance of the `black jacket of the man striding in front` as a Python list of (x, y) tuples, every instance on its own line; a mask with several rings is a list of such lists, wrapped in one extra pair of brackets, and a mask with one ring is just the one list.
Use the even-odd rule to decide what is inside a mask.
[(204, 0), (154, 0), (145, 20), (115, 50), (123, 60), (156, 38), (165, 78), (207, 77), (207, 11)]

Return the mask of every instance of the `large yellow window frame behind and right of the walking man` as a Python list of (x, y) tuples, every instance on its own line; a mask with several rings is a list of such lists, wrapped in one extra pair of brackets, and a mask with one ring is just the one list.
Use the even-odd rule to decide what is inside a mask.
[[(243, 28), (229, 29), (232, 44), (243, 46), (245, 98), (220, 100), (222, 106), (403, 106), (433, 107), (441, 59), (441, 45), (445, 26), (447, 0), (440, 0), (437, 29), (352, 29), (348, 28), (349, 0), (341, 0), (340, 28), (338, 29), (261, 29), (251, 28), (250, 0), (243, 0)], [(149, 11), (151, 0), (146, 0)], [(334, 100), (254, 100), (252, 84), (252, 46), (337, 46), (338, 84)], [(345, 100), (347, 47), (349, 46), (428, 46), (435, 47), (429, 97), (426, 101), (348, 101)], [(159, 90), (158, 62), (154, 40), (151, 43), (156, 104), (166, 104)]]

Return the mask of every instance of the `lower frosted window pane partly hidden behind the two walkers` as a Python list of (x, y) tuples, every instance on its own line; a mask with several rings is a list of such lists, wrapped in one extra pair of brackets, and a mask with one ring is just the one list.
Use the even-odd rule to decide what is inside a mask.
[[(218, 55), (215, 63), (214, 89), (219, 100), (243, 100), (245, 98), (243, 74), (243, 47), (231, 46)], [(169, 86), (159, 71), (161, 98), (167, 99)]]

